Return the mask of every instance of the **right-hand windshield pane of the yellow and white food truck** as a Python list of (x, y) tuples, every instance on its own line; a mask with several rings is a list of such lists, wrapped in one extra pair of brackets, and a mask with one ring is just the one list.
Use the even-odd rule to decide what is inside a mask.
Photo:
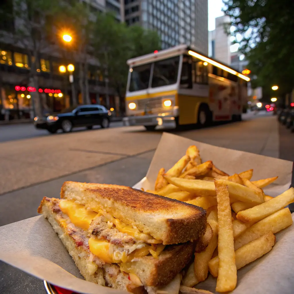
[(180, 56), (154, 63), (152, 88), (172, 85), (177, 82)]

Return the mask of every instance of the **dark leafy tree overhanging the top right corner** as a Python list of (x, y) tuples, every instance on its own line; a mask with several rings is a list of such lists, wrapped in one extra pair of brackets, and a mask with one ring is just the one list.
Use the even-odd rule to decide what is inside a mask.
[(288, 0), (223, 0), (234, 27), (234, 43), (249, 61), (254, 86), (277, 84), (289, 93), (294, 80), (294, 2)]

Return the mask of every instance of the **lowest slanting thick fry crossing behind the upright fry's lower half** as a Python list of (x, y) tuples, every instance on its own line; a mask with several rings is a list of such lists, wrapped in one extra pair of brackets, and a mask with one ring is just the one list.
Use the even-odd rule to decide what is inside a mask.
[[(268, 253), (273, 245), (275, 245), (275, 235), (269, 232), (237, 249), (235, 251), (237, 270)], [(218, 263), (218, 256), (208, 262), (209, 272), (214, 277), (218, 276)]]

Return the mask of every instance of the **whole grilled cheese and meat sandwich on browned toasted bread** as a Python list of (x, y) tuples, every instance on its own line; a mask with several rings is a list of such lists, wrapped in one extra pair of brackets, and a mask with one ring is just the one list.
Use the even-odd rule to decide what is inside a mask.
[(38, 212), (86, 280), (133, 293), (168, 284), (206, 228), (200, 207), (117, 185), (65, 182)]

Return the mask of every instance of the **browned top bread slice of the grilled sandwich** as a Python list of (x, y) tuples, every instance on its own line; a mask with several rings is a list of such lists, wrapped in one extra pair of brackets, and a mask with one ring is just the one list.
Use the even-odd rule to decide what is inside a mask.
[(203, 208), (126, 186), (67, 181), (60, 195), (93, 211), (102, 208), (163, 245), (197, 240), (206, 228)]

